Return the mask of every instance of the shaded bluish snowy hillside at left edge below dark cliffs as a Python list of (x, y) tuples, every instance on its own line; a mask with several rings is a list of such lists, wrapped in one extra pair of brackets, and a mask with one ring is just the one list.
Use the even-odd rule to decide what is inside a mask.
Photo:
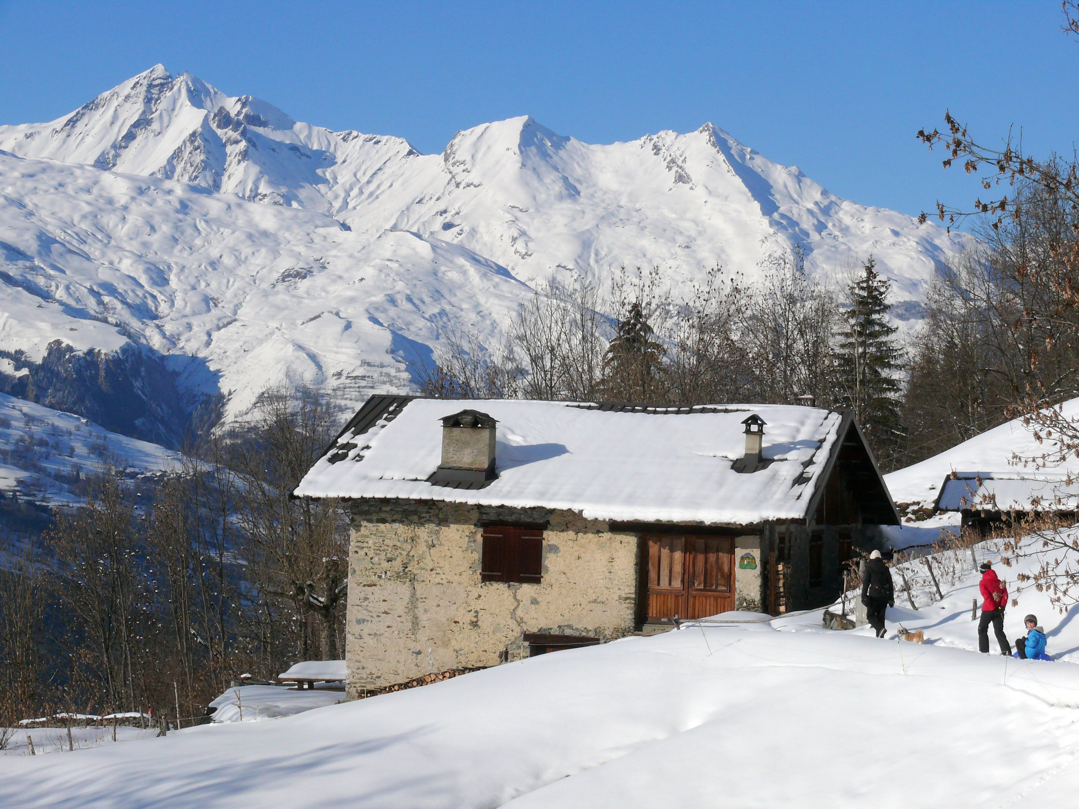
[(70, 413), (0, 394), (0, 493), (77, 505), (77, 477), (109, 465), (132, 474), (169, 471), (179, 453), (103, 429)]

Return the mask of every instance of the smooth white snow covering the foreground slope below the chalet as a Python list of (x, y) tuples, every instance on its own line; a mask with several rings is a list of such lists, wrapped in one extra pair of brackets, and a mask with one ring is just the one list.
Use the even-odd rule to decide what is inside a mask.
[[(819, 612), (687, 626), (274, 722), (9, 756), (0, 804), (1070, 806), (1079, 666), (971, 652), (978, 574), (954, 566), (964, 554), (938, 560), (956, 581), (943, 602), (918, 589), (917, 612), (889, 611), (889, 628), (920, 626), (924, 645), (828, 632)], [(1021, 568), (1000, 570), (1012, 581)], [(1035, 612), (1050, 653), (1076, 659), (1079, 607), (1054, 616), (1043, 594), (1017, 598), (1009, 635)]]

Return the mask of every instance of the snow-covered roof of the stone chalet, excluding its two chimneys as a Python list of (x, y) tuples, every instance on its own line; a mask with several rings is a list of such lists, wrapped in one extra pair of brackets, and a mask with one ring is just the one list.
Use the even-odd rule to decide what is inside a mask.
[[(440, 420), (469, 408), (498, 423), (497, 479), (475, 490), (433, 485)], [(739, 474), (732, 464), (745, 454), (742, 421), (752, 413), (767, 424), (763, 456), (771, 463)], [(554, 401), (372, 397), (296, 494), (547, 507), (613, 521), (802, 520), (812, 513), (851, 426), (838, 412), (776, 404), (627, 412)], [(879, 479), (875, 467), (873, 475)], [(879, 491), (890, 517), (883, 483)]]

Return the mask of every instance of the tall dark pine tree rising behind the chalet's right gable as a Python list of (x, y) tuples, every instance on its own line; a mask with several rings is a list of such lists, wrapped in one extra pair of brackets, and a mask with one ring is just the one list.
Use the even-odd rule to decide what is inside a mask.
[(900, 415), (902, 349), (898, 329), (888, 323), (891, 283), (876, 272), (870, 256), (863, 273), (847, 288), (850, 307), (835, 355), (838, 403), (850, 408), (882, 465), (889, 466), (903, 444)]

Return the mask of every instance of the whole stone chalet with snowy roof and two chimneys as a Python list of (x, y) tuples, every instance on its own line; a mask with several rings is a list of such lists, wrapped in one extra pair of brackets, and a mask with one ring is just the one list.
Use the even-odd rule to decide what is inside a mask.
[(831, 603), (899, 522), (849, 413), (773, 404), (372, 396), (296, 495), (352, 512), (353, 695)]

